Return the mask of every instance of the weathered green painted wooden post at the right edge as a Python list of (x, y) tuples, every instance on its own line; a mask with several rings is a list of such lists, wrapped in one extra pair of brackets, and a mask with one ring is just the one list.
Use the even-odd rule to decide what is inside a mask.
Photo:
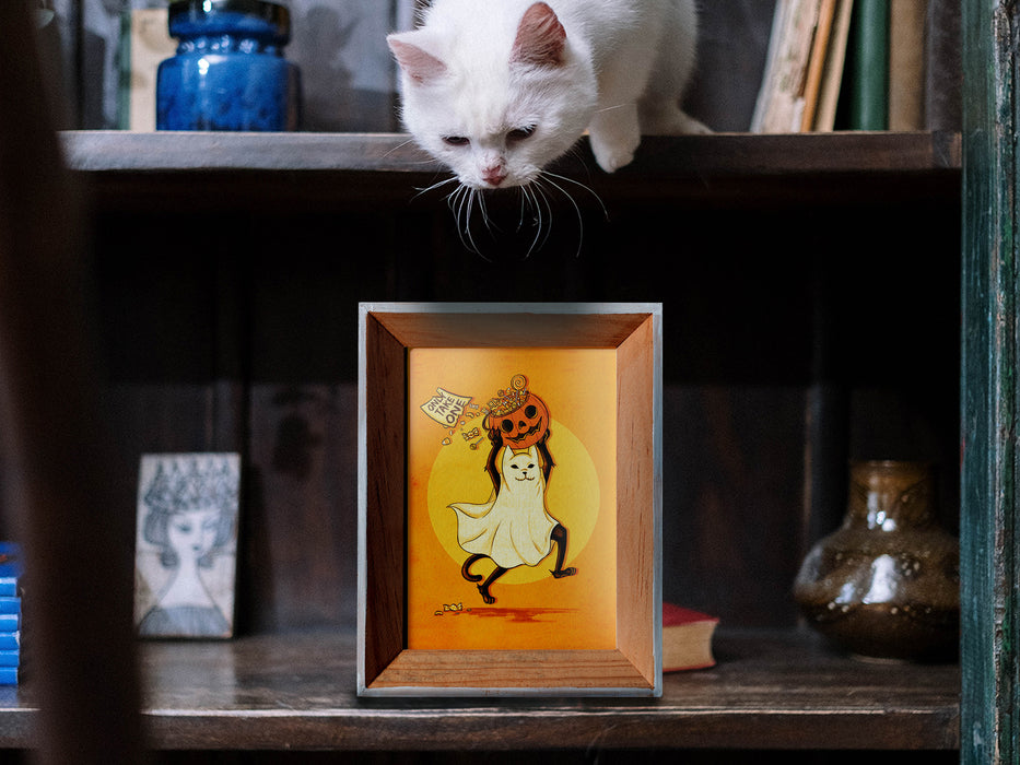
[(1018, 301), (1015, 0), (963, 0), (961, 761), (1018, 745)]

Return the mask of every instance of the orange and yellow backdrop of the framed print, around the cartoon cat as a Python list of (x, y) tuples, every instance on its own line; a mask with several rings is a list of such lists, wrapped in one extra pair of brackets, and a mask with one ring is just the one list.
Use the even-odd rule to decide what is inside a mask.
[[(408, 647), (615, 648), (615, 351), (412, 349), (408, 366)], [(421, 405), (443, 388), (485, 407), (521, 374), (549, 407), (547, 445), (555, 467), (546, 509), (568, 531), (564, 566), (577, 574), (551, 576), (553, 544), (537, 566), (497, 579), (496, 602), (486, 605), (477, 585), (460, 576), (468, 553), (448, 507), (481, 504), (492, 493), (482, 410), (469, 405), (449, 428)], [(476, 427), (479, 434), (466, 439)], [(488, 576), (493, 567), (482, 560), (472, 572)]]

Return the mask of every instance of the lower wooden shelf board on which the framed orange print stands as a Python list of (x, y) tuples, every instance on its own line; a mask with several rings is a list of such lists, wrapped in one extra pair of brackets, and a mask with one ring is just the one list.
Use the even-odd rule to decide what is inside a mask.
[[(667, 674), (658, 699), (360, 699), (350, 633), (146, 643), (144, 718), (164, 750), (959, 746), (954, 664), (856, 661), (806, 633), (715, 645), (717, 667)], [(31, 688), (0, 698), (0, 745), (27, 745)]]

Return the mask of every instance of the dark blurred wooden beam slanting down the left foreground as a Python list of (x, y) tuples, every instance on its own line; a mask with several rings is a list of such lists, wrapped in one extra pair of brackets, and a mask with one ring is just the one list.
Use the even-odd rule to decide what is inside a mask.
[(83, 216), (27, 2), (0, 3), (0, 437), (45, 763), (138, 762), (132, 536), (110, 501)]

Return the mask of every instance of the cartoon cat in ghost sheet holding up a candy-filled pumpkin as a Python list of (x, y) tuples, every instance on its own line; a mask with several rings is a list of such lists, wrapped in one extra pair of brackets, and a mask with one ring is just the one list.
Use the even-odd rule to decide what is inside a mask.
[(515, 378), (509, 392), (500, 391), (489, 402), (485, 424), (492, 447), (485, 470), (492, 480), (489, 501), (480, 504), (457, 503), (457, 541), (470, 553), (460, 573), (472, 582), (482, 576), (471, 566), (490, 558), (495, 568), (478, 585), (486, 603), (494, 603), (492, 584), (511, 568), (537, 566), (556, 544), (555, 578), (573, 576), (576, 568), (563, 567), (566, 556), (566, 528), (549, 515), (546, 487), (555, 464), (549, 454), (549, 410), (544, 402), (524, 387), (523, 376)]

